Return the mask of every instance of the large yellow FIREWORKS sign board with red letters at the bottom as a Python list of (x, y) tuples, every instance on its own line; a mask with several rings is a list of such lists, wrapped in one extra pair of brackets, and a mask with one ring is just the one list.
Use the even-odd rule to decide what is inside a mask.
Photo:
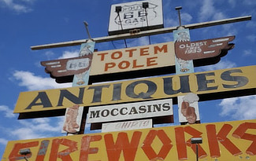
[(256, 160), (256, 120), (166, 126), (102, 134), (9, 141), (2, 161), (29, 160)]

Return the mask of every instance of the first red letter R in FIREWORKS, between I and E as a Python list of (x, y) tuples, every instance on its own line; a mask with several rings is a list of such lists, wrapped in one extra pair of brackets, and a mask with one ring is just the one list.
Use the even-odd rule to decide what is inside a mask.
[[(60, 145), (65, 145), (69, 148), (58, 152)], [(63, 161), (72, 161), (71, 156), (69, 155), (71, 152), (75, 152), (77, 150), (77, 142), (71, 141), (69, 139), (54, 139), (53, 144), (50, 150), (50, 160), (57, 160), (58, 158), (62, 159)]]

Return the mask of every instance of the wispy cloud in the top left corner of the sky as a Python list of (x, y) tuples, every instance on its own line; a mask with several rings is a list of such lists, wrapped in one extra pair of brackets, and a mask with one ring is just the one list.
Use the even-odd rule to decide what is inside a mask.
[(20, 2), (14, 2), (13, 0), (0, 0), (0, 2), (3, 2), (9, 9), (12, 9), (17, 13), (28, 13), (32, 11), (32, 9), (27, 6), (28, 2), (32, 2), (32, 0), (23, 0), (26, 4), (20, 4)]

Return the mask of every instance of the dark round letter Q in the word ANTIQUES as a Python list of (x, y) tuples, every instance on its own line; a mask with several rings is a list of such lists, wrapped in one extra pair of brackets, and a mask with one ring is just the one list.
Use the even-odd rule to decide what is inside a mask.
[[(135, 86), (137, 86), (139, 84), (147, 85), (146, 93), (141, 92), (139, 94), (135, 94), (135, 92), (134, 92)], [(128, 97), (147, 99), (147, 98), (152, 98), (151, 95), (154, 94), (157, 89), (158, 89), (158, 86), (154, 82), (151, 82), (148, 80), (142, 80), (142, 81), (132, 82), (131, 84), (129, 84), (126, 87), (125, 93)]]

